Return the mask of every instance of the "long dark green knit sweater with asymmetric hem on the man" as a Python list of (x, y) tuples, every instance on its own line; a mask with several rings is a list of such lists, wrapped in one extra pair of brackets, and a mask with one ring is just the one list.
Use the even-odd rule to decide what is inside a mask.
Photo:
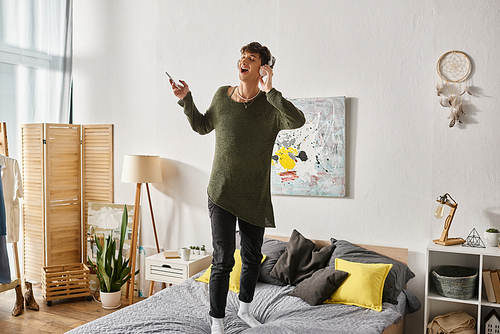
[(272, 89), (245, 108), (220, 87), (202, 115), (191, 92), (179, 101), (194, 131), (215, 129), (215, 155), (208, 197), (221, 208), (256, 226), (275, 227), (271, 203), (271, 159), (280, 130), (304, 125), (304, 114)]

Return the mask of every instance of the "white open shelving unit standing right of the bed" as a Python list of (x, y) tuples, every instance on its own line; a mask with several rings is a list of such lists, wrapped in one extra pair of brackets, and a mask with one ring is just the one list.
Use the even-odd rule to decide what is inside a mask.
[[(468, 300), (443, 297), (438, 294), (431, 272), (440, 265), (457, 265), (478, 270), (476, 294)], [(500, 313), (500, 303), (490, 303), (486, 299), (483, 286), (483, 269), (500, 268), (498, 247), (473, 248), (462, 245), (442, 246), (430, 243), (427, 247), (427, 276), (425, 278), (424, 333), (427, 324), (438, 315), (464, 311), (476, 318), (477, 334), (485, 333), (484, 317), (496, 309)]]

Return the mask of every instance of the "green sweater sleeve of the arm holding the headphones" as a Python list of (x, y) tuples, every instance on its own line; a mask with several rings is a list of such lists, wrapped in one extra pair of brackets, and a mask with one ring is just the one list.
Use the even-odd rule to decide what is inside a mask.
[(267, 101), (279, 110), (278, 119), (279, 129), (297, 129), (305, 124), (306, 118), (304, 113), (283, 97), (281, 92), (275, 88), (271, 89), (267, 94)]

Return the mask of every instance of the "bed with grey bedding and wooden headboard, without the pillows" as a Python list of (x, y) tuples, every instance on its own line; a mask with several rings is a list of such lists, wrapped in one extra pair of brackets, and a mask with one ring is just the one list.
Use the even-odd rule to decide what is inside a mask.
[[(265, 240), (264, 245), (267, 242), (273, 244), (278, 242), (289, 246), (291, 243), (291, 237), (266, 235)], [(336, 240), (311, 241), (316, 244), (316, 250), (320, 250)], [(376, 252), (381, 256), (397, 260), (398, 263), (407, 263), (407, 249), (370, 245), (355, 247), (358, 246), (367, 252)], [(264, 246), (263, 253), (265, 254)], [(343, 257), (348, 258), (348, 256)], [(272, 255), (268, 258), (270, 260)], [(328, 266), (328, 263), (326, 265)], [(163, 289), (141, 302), (77, 327), (68, 333), (209, 334), (208, 284), (196, 280), (203, 273), (200, 272), (182, 284)], [(229, 291), (224, 320), (226, 333), (404, 333), (404, 315), (420, 308), (418, 299), (405, 289), (397, 295), (397, 304), (383, 302), (380, 312), (346, 304), (311, 306), (301, 298), (289, 295), (294, 289), (295, 286), (290, 284), (275, 285), (259, 279), (251, 312), (263, 325), (255, 328), (250, 328), (237, 316), (238, 295)]]

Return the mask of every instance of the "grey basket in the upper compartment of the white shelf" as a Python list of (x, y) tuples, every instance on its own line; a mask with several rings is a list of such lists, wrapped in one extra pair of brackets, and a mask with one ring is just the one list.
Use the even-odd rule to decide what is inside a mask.
[(461, 266), (439, 266), (432, 280), (441, 296), (471, 299), (476, 294), (477, 269)]

